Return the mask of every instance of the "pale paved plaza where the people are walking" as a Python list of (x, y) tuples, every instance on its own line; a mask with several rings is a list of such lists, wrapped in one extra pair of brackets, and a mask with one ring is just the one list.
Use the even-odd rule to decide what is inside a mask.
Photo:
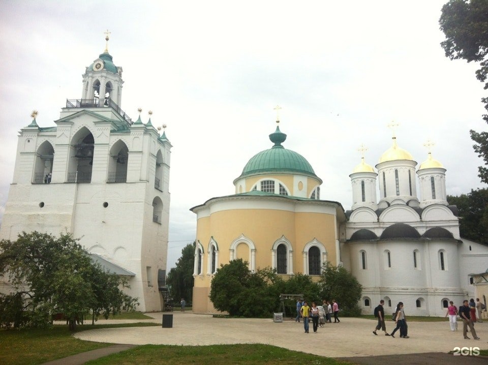
[[(154, 320), (148, 322), (162, 323), (162, 313), (147, 314)], [(109, 323), (117, 321), (109, 320)], [(120, 321), (128, 322), (128, 321)], [(140, 321), (134, 321), (140, 322)], [(99, 321), (98, 323), (105, 323)], [(381, 363), (381, 355), (391, 363), (399, 354), (414, 354), (411, 357), (399, 357), (400, 363), (440, 363), (432, 362), (432, 353), (447, 354), (455, 347), (479, 347), (488, 349), (488, 323), (475, 325), (481, 341), (464, 340), (462, 324), (459, 331), (450, 331), (447, 319), (445, 322), (409, 322), (410, 339), (386, 337), (379, 333), (374, 336), (372, 330), (376, 322), (360, 318), (342, 318), (341, 323), (328, 323), (319, 328), (318, 333), (303, 333), (302, 323), (285, 320), (274, 323), (272, 319), (226, 319), (213, 318), (210, 315), (192, 313), (173, 313), (173, 327), (126, 327), (104, 328), (78, 332), (76, 338), (86, 341), (110, 342), (117, 344), (164, 344), (164, 345), (213, 345), (263, 343), (280, 346), (290, 350), (308, 352), (320, 356), (347, 358), (357, 363)], [(393, 322), (387, 322), (389, 331)], [(312, 332), (312, 330), (311, 330)], [(397, 332), (398, 333), (398, 332)], [(471, 334), (469, 334), (471, 337)], [(301, 339), (319, 341), (323, 346), (303, 347)], [(425, 355), (418, 355), (425, 354)], [(429, 355), (430, 354), (430, 355)], [(447, 356), (447, 357), (446, 357)], [(360, 359), (358, 357), (363, 357)], [(367, 357), (376, 357), (371, 361)], [(448, 363), (464, 363), (471, 359), (475, 364), (478, 360), (486, 363), (486, 358), (444, 355)], [(405, 362), (411, 358), (412, 362)], [(416, 359), (416, 360), (414, 360)], [(418, 362), (423, 361), (423, 362)], [(386, 362), (384, 362), (386, 363)]]

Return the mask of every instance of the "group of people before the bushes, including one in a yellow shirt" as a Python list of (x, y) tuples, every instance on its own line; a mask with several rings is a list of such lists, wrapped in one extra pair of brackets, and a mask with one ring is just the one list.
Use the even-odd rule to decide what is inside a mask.
[(303, 328), (305, 333), (309, 333), (309, 320), (312, 319), (314, 333), (317, 333), (318, 327), (323, 327), (325, 323), (332, 323), (331, 315), (334, 316), (334, 323), (341, 322), (339, 320), (339, 305), (335, 299), (332, 303), (328, 300), (323, 300), (322, 306), (317, 306), (312, 302), (312, 307), (309, 307), (308, 302), (303, 299), (296, 301), (296, 318), (295, 322), (300, 322), (303, 318)]

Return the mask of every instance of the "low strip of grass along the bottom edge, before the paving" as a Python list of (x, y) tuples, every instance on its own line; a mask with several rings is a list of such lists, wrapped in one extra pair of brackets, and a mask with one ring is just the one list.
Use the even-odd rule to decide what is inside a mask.
[(229, 365), (271, 364), (296, 365), (301, 363), (349, 364), (332, 358), (291, 351), (271, 345), (211, 345), (165, 346), (144, 345), (103, 358), (86, 362), (86, 365), (139, 365), (168, 363), (171, 365)]

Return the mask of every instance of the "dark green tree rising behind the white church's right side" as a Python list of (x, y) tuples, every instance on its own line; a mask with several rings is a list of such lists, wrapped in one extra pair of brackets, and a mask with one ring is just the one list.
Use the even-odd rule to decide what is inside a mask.
[(488, 244), (488, 189), (471, 190), (469, 194), (447, 196), (459, 211), (461, 237)]

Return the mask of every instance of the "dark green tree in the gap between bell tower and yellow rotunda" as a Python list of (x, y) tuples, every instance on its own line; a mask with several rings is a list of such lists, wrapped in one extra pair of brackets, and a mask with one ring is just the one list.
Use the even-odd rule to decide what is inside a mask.
[(185, 298), (187, 302), (193, 296), (193, 265), (195, 262), (195, 242), (181, 250), (181, 257), (176, 266), (168, 272), (166, 282), (171, 286), (171, 294), (175, 300)]

